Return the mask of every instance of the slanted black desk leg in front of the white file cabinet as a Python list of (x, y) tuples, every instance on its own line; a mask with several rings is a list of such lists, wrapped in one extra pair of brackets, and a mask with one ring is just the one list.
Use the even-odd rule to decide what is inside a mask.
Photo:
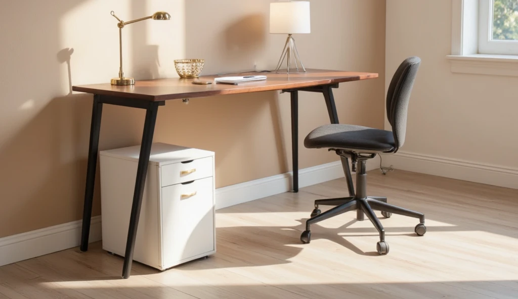
[(151, 154), (151, 144), (153, 143), (153, 132), (155, 130), (156, 113), (158, 112), (159, 102), (150, 102), (146, 110), (146, 121), (142, 133), (142, 143), (140, 145), (140, 155), (138, 157), (137, 178), (135, 180), (135, 191), (133, 193), (133, 205), (131, 208), (130, 227), (126, 240), (126, 252), (124, 254), (124, 266), (122, 277), (128, 278), (131, 273), (133, 263), (133, 251), (137, 238), (138, 219), (140, 217), (140, 207), (142, 206), (142, 195), (146, 184), (148, 173), (149, 155)]

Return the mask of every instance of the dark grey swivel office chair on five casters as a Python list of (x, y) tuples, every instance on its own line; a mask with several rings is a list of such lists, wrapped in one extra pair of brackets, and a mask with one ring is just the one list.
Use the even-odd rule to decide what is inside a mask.
[[(353, 210), (356, 210), (356, 219), (360, 221), (367, 214), (380, 233), (380, 242), (376, 246), (380, 255), (389, 253), (389, 244), (385, 242), (385, 230), (373, 210), (381, 211), (385, 218), (391, 217), (392, 213), (419, 218), (420, 223), (414, 231), (420, 236), (426, 233), (423, 213), (388, 204), (386, 197), (367, 196), (366, 174), (368, 159), (381, 153), (394, 154), (405, 143), (408, 101), (420, 64), (419, 57), (409, 57), (401, 63), (392, 78), (386, 98), (387, 118), (392, 131), (332, 124), (316, 128), (304, 140), (307, 148), (329, 148), (329, 151), (335, 151), (341, 157), (351, 158), (352, 171), (356, 172), (356, 193), (353, 197), (316, 200), (311, 218), (306, 221), (306, 230), (300, 235), (303, 243), (311, 241), (310, 226), (313, 223)], [(335, 207), (321, 213), (319, 205)]]

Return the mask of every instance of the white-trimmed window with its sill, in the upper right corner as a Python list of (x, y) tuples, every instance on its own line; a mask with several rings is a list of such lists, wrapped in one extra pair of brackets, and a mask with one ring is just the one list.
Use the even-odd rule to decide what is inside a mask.
[(518, 77), (518, 0), (452, 0), (454, 73)]

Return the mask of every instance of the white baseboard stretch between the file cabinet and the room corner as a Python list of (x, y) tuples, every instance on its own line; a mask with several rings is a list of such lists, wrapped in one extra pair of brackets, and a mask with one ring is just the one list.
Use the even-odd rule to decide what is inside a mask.
[[(379, 157), (367, 161), (367, 171), (379, 168)], [(354, 173), (353, 173), (354, 174)], [(216, 189), (216, 210), (220, 208), (265, 198), (292, 190), (292, 172)], [(336, 180), (343, 177), (340, 161), (301, 169), (298, 172), (299, 188)]]

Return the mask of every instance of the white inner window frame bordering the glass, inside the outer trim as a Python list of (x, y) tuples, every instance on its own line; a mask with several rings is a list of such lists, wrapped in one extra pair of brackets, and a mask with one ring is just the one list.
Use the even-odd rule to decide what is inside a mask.
[(479, 54), (518, 54), (518, 41), (493, 39), (495, 0), (479, 0)]

